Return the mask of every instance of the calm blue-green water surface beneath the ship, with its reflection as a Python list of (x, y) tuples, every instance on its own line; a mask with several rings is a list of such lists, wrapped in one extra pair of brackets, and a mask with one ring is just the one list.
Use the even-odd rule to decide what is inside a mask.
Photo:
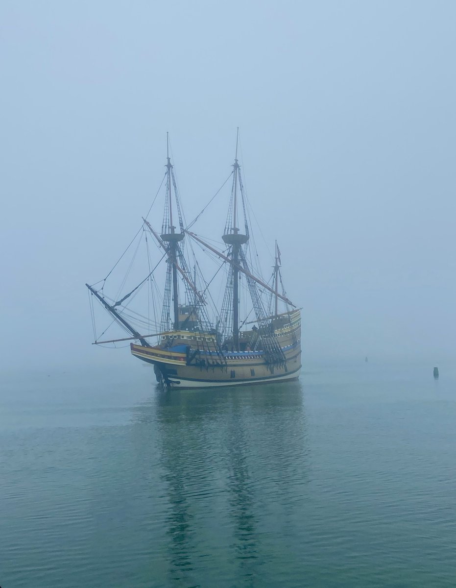
[(456, 585), (456, 374), (0, 376), (2, 588)]

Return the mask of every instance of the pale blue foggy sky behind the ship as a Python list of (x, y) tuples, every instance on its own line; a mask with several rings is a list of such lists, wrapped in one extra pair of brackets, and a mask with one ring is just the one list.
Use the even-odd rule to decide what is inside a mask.
[(134, 361), (90, 345), (84, 284), (138, 229), (166, 131), (190, 218), (236, 126), (304, 364), (454, 358), (455, 55), (453, 1), (3, 0), (1, 368)]

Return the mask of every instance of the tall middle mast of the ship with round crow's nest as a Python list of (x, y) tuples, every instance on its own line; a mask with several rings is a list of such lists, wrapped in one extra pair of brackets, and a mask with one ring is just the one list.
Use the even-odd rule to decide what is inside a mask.
[[(232, 188), (232, 195), (233, 195), (233, 223), (232, 226), (229, 226), (229, 222), (227, 222), (225, 226), (225, 232), (222, 236), (227, 245), (231, 245), (231, 258), (233, 261), (233, 349), (234, 351), (239, 351), (239, 252), (240, 248), (244, 243), (247, 243), (249, 240), (248, 235), (243, 235), (239, 232), (239, 228), (236, 226), (237, 222), (237, 183), (240, 182), (239, 174), (240, 174), (240, 165), (237, 161), (237, 144), (239, 139), (239, 127), (237, 128), (236, 133), (236, 156), (234, 157), (234, 174), (233, 174), (233, 188)], [(242, 189), (241, 189), (242, 195)]]

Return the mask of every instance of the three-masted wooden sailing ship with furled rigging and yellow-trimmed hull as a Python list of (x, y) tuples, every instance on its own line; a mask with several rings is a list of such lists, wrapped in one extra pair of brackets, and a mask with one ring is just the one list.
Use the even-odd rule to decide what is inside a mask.
[[(86, 284), (93, 344), (129, 345), (132, 355), (152, 365), (157, 382), (169, 389), (289, 382), (299, 377), (300, 309), (284, 289), (277, 242), (272, 271), (263, 278), (238, 146), (239, 131), (230, 175), (187, 223), (167, 136), (165, 175), (138, 233), (104, 279)], [(202, 236), (199, 229), (195, 232), (196, 227), (204, 232), (208, 225), (215, 228), (213, 202), (229, 185), (224, 228), (220, 218), (221, 240)], [(158, 230), (152, 220), (157, 214), (151, 212), (160, 193), (164, 212)], [(207, 223), (204, 217), (209, 212)], [(141, 245), (146, 251), (142, 257)], [(110, 315), (100, 334), (94, 302)], [(114, 324), (128, 336), (107, 339)]]

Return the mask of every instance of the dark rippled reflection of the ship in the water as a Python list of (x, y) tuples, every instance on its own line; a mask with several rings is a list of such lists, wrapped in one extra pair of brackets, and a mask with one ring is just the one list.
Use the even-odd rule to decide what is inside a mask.
[(151, 538), (152, 585), (273, 585), (274, 563), (293, 558), (287, 537), (306, 500), (300, 383), (157, 390), (135, 422), (157, 430), (140, 435), (158, 452), (150, 496), (165, 527), (160, 544)]

